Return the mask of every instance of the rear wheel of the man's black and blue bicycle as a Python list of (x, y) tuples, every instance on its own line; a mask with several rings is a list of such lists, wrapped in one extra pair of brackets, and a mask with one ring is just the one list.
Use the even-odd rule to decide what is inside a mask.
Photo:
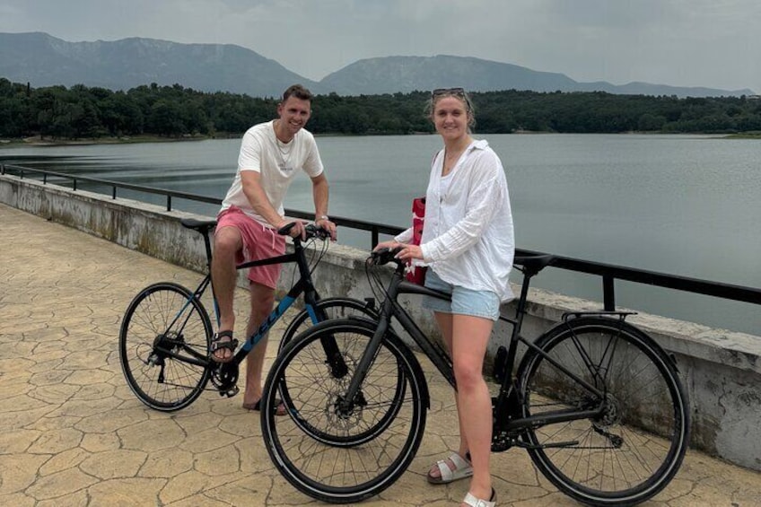
[(129, 389), (162, 412), (193, 403), (210, 370), (190, 361), (208, 357), (212, 332), (206, 309), (186, 287), (171, 282), (145, 287), (129, 303), (119, 330), (119, 363)]

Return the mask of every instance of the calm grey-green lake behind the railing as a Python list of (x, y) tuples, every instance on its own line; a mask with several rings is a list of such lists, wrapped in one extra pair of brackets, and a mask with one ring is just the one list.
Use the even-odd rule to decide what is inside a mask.
[[(708, 135), (483, 137), (507, 173), (519, 248), (761, 286), (761, 142)], [(441, 139), (324, 136), (318, 144), (330, 214), (401, 227), (409, 222), (412, 198), (424, 193)], [(0, 150), (0, 162), (221, 198), (239, 146), (239, 139), (229, 139), (15, 147)], [(214, 205), (173, 205), (216, 212)], [(312, 210), (306, 177), (293, 183), (285, 206)], [(370, 247), (362, 232), (343, 229), (339, 241)], [(602, 297), (599, 278), (590, 275), (548, 269), (536, 285)], [(749, 303), (617, 282), (617, 304), (761, 334), (761, 307)]]

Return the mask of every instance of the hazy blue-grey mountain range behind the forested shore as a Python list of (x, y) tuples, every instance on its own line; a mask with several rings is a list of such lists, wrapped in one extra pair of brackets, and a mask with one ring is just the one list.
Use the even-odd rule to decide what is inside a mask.
[(609, 92), (678, 97), (753, 95), (744, 90), (603, 81), (580, 83), (475, 57), (376, 57), (358, 60), (316, 82), (275, 60), (232, 44), (181, 44), (160, 39), (68, 42), (47, 33), (0, 33), (0, 77), (43, 87), (62, 84), (128, 90), (142, 84), (180, 84), (201, 92), (276, 97), (293, 83), (339, 95), (432, 90), (455, 83), (471, 92)]

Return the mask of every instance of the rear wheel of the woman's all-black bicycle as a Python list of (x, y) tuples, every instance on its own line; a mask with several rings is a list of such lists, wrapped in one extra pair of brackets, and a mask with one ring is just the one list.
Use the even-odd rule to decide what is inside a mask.
[[(602, 390), (605, 399), (605, 410), (593, 419), (547, 424), (522, 435), (542, 474), (564, 494), (592, 505), (634, 505), (660, 493), (676, 475), (689, 441), (687, 397), (669, 356), (638, 328), (599, 316), (570, 319), (536, 345)], [(599, 404), (531, 349), (518, 378), (524, 416)]]

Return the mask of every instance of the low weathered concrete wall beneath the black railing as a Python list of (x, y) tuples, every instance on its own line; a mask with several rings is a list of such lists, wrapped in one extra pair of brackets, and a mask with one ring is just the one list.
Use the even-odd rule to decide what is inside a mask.
[[(195, 216), (192, 214), (166, 212), (159, 206), (113, 200), (86, 191), (72, 192), (9, 175), (0, 176), (0, 203), (180, 266), (198, 271), (206, 266), (200, 236), (179, 223), (182, 217)], [(323, 297), (348, 295), (357, 299), (372, 295), (363, 269), (366, 257), (366, 251), (331, 245), (314, 274), (319, 293)], [(290, 282), (291, 271), (286, 268), (280, 289)], [(411, 296), (405, 305), (425, 331), (433, 332), (433, 319), (418, 310), (415, 297)], [(564, 311), (601, 307), (599, 302), (542, 290), (532, 291), (530, 300), (523, 328), (526, 337), (537, 337)], [(677, 358), (691, 403), (692, 446), (761, 470), (761, 439), (757, 438), (761, 428), (761, 338), (647, 314), (630, 319)], [(509, 331), (509, 326), (495, 329), (489, 359), (498, 345), (507, 342)]]

